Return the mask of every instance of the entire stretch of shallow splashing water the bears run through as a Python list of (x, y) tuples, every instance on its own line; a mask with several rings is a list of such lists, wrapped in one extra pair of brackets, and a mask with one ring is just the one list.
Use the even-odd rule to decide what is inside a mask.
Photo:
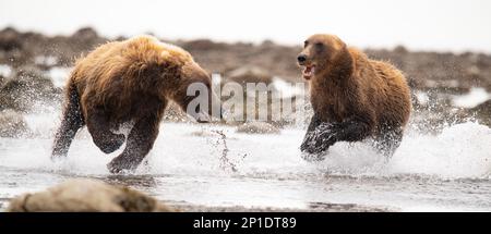
[[(309, 208), (357, 204), (403, 210), (491, 210), (491, 130), (475, 122), (427, 134), (409, 127), (388, 163), (366, 143), (337, 143), (324, 161), (301, 159), (304, 130), (241, 134), (232, 126), (163, 123), (134, 175), (115, 176), (87, 131), (67, 159), (49, 159), (59, 113), (27, 115), (31, 138), (0, 138), (0, 204), (70, 177), (96, 177), (161, 200), (204, 206)], [(1, 206), (0, 206), (1, 207)]]

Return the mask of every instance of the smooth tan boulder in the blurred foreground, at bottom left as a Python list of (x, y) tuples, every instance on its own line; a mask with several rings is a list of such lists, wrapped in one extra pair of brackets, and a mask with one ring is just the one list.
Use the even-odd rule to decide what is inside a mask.
[(166, 212), (175, 211), (141, 192), (100, 181), (70, 180), (10, 201), (10, 212)]

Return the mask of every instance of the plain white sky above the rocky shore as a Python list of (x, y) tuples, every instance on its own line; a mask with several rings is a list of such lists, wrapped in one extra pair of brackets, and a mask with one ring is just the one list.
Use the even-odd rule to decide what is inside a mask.
[(332, 33), (358, 47), (491, 52), (489, 0), (0, 0), (0, 28), (300, 45)]

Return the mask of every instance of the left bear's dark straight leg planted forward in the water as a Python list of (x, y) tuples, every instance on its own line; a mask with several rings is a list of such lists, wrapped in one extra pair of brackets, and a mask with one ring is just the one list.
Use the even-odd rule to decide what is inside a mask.
[(128, 136), (124, 151), (107, 165), (111, 173), (135, 170), (154, 146), (158, 135), (159, 119), (145, 116), (139, 120)]

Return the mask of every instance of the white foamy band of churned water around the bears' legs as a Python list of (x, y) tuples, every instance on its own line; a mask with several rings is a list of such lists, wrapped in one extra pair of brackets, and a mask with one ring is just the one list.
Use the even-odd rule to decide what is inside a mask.
[[(84, 128), (59, 162), (49, 158), (59, 114), (26, 116), (37, 135), (33, 138), (0, 138), (0, 165), (56, 170), (75, 174), (107, 174), (106, 163), (121, 152), (105, 155)], [(224, 164), (224, 143), (213, 131), (226, 135), (226, 157), (237, 168)], [(322, 162), (307, 162), (299, 145), (304, 130), (286, 128), (279, 135), (236, 133), (219, 125), (163, 123), (146, 162), (136, 174), (244, 175), (295, 177), (306, 175), (391, 176), (422, 174), (443, 178), (489, 178), (491, 174), (491, 130), (474, 122), (445, 127), (438, 134), (411, 130), (388, 163), (366, 143), (338, 143)]]

